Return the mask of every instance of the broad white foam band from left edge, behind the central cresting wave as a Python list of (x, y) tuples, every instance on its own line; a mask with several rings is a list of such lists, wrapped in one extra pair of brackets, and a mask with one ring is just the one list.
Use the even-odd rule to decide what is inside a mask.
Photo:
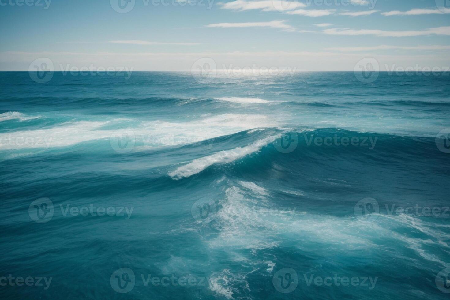
[[(4, 120), (6, 118), (28, 118), (28, 116), (23, 116), (18, 112), (14, 114), (4, 113), (0, 116)], [(109, 139), (116, 131), (111, 129), (114, 121), (132, 120), (115, 119), (110, 122), (76, 121), (55, 125), (48, 129), (3, 133), (0, 134), (0, 149), (65, 147), (89, 140)], [(102, 128), (103, 125), (107, 124), (108, 129)], [(270, 118), (263, 115), (222, 114), (183, 123), (144, 121), (130, 129), (134, 134), (134, 139), (140, 142), (140, 145), (144, 145), (139, 146), (139, 143), (136, 143), (135, 150), (139, 150), (139, 147), (141, 147), (140, 150), (145, 150), (160, 146), (196, 143), (203, 140), (209, 140), (209, 146), (212, 147), (212, 139), (216, 137), (258, 127), (273, 127), (275, 125)]]

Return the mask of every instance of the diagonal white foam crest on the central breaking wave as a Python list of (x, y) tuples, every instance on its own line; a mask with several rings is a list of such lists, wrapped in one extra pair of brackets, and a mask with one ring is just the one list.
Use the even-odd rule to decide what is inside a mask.
[(194, 159), (187, 165), (180, 166), (174, 171), (171, 171), (167, 174), (173, 179), (181, 179), (183, 177), (192, 176), (214, 164), (229, 163), (253, 152), (257, 152), (262, 147), (275, 141), (277, 137), (278, 136), (270, 136), (264, 139), (260, 139), (257, 142), (245, 147), (236, 147), (231, 150), (223, 150), (205, 157)]

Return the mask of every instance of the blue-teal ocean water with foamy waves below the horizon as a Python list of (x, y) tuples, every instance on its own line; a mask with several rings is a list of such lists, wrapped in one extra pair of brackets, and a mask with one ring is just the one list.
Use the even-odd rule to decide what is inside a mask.
[(0, 87), (3, 298), (448, 299), (449, 76)]

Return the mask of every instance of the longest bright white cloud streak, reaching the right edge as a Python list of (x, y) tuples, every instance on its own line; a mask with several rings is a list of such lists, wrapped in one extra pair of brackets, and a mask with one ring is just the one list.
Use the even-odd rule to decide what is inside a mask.
[(425, 30), (405, 30), (405, 31), (386, 31), (378, 29), (324, 29), (322, 31), (325, 34), (331, 35), (347, 35), (347, 36), (360, 36), (360, 35), (372, 35), (372, 36), (425, 36), (430, 34), (450, 36), (450, 26), (428, 28)]

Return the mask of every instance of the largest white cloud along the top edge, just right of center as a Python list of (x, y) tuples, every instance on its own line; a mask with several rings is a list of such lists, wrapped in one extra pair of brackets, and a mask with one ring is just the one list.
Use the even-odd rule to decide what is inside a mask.
[(260, 1), (246, 1), (236, 0), (226, 3), (218, 3), (222, 6), (222, 9), (235, 9), (235, 10), (251, 10), (261, 9), (263, 11), (286, 11), (293, 10), (297, 7), (306, 7), (306, 4), (298, 1), (284, 1), (284, 0), (260, 0)]

